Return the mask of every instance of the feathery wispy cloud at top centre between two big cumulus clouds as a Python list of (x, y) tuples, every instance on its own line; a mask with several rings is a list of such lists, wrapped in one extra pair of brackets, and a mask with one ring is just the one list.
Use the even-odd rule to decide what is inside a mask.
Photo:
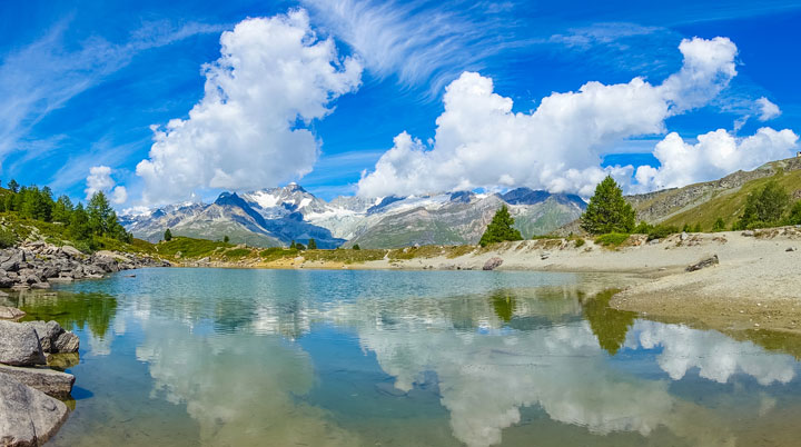
[[(377, 78), (431, 93), (508, 43), (511, 3), (448, 4), (370, 0), (303, 0), (316, 22), (347, 42)], [(481, 14), (471, 10), (483, 8)]]

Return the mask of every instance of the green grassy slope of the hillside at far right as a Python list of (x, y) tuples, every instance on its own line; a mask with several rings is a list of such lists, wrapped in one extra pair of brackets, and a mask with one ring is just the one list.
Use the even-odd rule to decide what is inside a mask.
[(784, 187), (791, 195), (801, 190), (801, 170), (790, 172), (779, 171), (772, 177), (751, 180), (738, 190), (719, 193), (696, 207), (668, 218), (664, 224), (675, 225), (678, 227), (682, 227), (684, 224), (691, 226), (701, 224), (701, 228), (704, 231), (709, 231), (712, 229), (714, 221), (721, 217), (725, 220), (726, 227), (731, 227), (740, 215), (742, 215), (748, 195), (763, 188), (770, 180), (777, 180), (777, 182)]

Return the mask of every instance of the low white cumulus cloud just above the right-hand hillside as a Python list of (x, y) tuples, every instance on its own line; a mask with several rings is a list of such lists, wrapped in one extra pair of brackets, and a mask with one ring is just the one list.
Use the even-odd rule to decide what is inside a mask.
[(672, 132), (654, 149), (653, 155), (661, 166), (637, 168), (637, 189), (682, 187), (721, 178), (738, 169), (751, 170), (768, 161), (791, 156), (798, 138), (789, 129), (779, 131), (764, 127), (744, 138), (718, 129), (700, 135), (693, 145)]

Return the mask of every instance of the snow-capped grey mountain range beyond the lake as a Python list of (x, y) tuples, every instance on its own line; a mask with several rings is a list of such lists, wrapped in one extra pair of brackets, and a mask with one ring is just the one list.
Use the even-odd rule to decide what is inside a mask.
[(459, 191), (409, 197), (337, 197), (325, 201), (296, 183), (246, 193), (221, 193), (214, 203), (181, 203), (123, 216), (136, 237), (174, 235), (251, 246), (306, 244), (320, 248), (390, 248), (426, 244), (475, 244), (494, 212), (506, 203), (523, 236), (548, 232), (577, 218), (586, 203), (577, 196), (527, 188), (504, 195)]

